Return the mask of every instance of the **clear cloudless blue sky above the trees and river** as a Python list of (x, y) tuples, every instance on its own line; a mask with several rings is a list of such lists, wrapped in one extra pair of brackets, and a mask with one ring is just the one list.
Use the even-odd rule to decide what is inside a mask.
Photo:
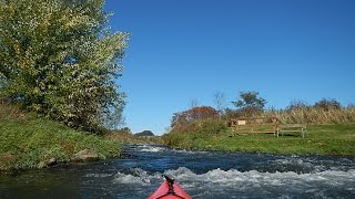
[(118, 80), (133, 133), (163, 134), (191, 101), (227, 105), (257, 91), (267, 107), (355, 103), (354, 0), (106, 0), (131, 33)]

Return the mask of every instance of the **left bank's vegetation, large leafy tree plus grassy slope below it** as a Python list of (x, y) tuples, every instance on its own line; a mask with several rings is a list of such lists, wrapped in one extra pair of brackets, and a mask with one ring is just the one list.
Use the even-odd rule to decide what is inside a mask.
[(109, 30), (103, 6), (0, 2), (0, 169), (69, 161), (81, 149), (119, 155), (102, 134), (123, 122), (128, 33)]

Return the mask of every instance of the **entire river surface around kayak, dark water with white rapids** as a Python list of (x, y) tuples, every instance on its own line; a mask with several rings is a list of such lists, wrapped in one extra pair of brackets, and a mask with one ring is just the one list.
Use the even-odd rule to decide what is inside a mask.
[(124, 159), (0, 172), (0, 198), (146, 198), (169, 175), (192, 198), (355, 198), (355, 157), (128, 145)]

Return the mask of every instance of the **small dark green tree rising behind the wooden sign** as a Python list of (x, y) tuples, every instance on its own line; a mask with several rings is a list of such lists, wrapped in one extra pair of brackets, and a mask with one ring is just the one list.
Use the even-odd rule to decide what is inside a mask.
[(264, 111), (266, 100), (258, 96), (258, 92), (247, 91), (241, 92), (240, 98), (232, 102), (237, 107), (239, 115), (253, 116)]

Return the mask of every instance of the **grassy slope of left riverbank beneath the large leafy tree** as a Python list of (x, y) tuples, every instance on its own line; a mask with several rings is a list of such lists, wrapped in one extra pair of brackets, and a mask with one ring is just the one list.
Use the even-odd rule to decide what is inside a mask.
[(0, 170), (42, 168), (49, 159), (69, 161), (82, 149), (94, 150), (99, 158), (118, 156), (122, 143), (71, 129), (58, 122), (0, 104)]

